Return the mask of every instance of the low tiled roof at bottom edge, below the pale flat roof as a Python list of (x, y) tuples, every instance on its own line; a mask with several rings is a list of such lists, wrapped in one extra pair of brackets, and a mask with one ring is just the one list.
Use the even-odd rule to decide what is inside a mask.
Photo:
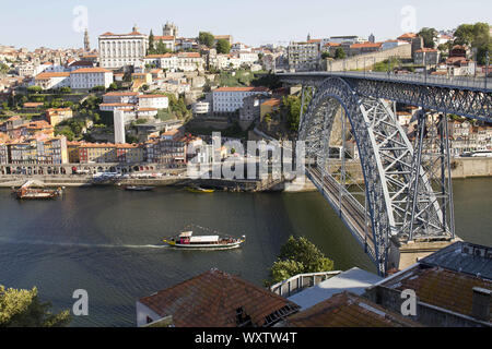
[(347, 291), (289, 316), (286, 324), (290, 327), (420, 327), (402, 315)]

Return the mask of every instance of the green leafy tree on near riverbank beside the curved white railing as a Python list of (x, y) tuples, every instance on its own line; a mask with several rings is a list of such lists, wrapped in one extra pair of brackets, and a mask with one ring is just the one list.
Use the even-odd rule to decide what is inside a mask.
[(270, 285), (305, 273), (330, 272), (333, 261), (304, 237), (290, 237), (280, 249), (280, 255), (270, 268)]

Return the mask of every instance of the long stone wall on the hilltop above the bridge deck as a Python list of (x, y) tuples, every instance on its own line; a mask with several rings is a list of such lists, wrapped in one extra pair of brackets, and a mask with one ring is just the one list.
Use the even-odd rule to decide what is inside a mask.
[[(363, 68), (371, 68), (374, 63), (383, 62), (390, 57), (398, 57), (403, 59), (412, 58), (411, 45), (402, 45), (390, 48), (384, 51), (377, 51), (365, 55), (358, 55), (340, 60), (323, 60), (321, 69), (325, 71), (340, 72), (345, 70), (358, 70)], [(365, 63), (365, 67), (364, 67)]]

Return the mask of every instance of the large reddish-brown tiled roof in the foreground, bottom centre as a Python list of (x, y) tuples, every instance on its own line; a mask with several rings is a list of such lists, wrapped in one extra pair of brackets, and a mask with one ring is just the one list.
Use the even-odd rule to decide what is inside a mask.
[(173, 315), (176, 327), (235, 327), (236, 311), (241, 308), (254, 326), (263, 326), (276, 311), (285, 306), (291, 312), (298, 309), (283, 297), (216, 269), (140, 302), (163, 317)]

